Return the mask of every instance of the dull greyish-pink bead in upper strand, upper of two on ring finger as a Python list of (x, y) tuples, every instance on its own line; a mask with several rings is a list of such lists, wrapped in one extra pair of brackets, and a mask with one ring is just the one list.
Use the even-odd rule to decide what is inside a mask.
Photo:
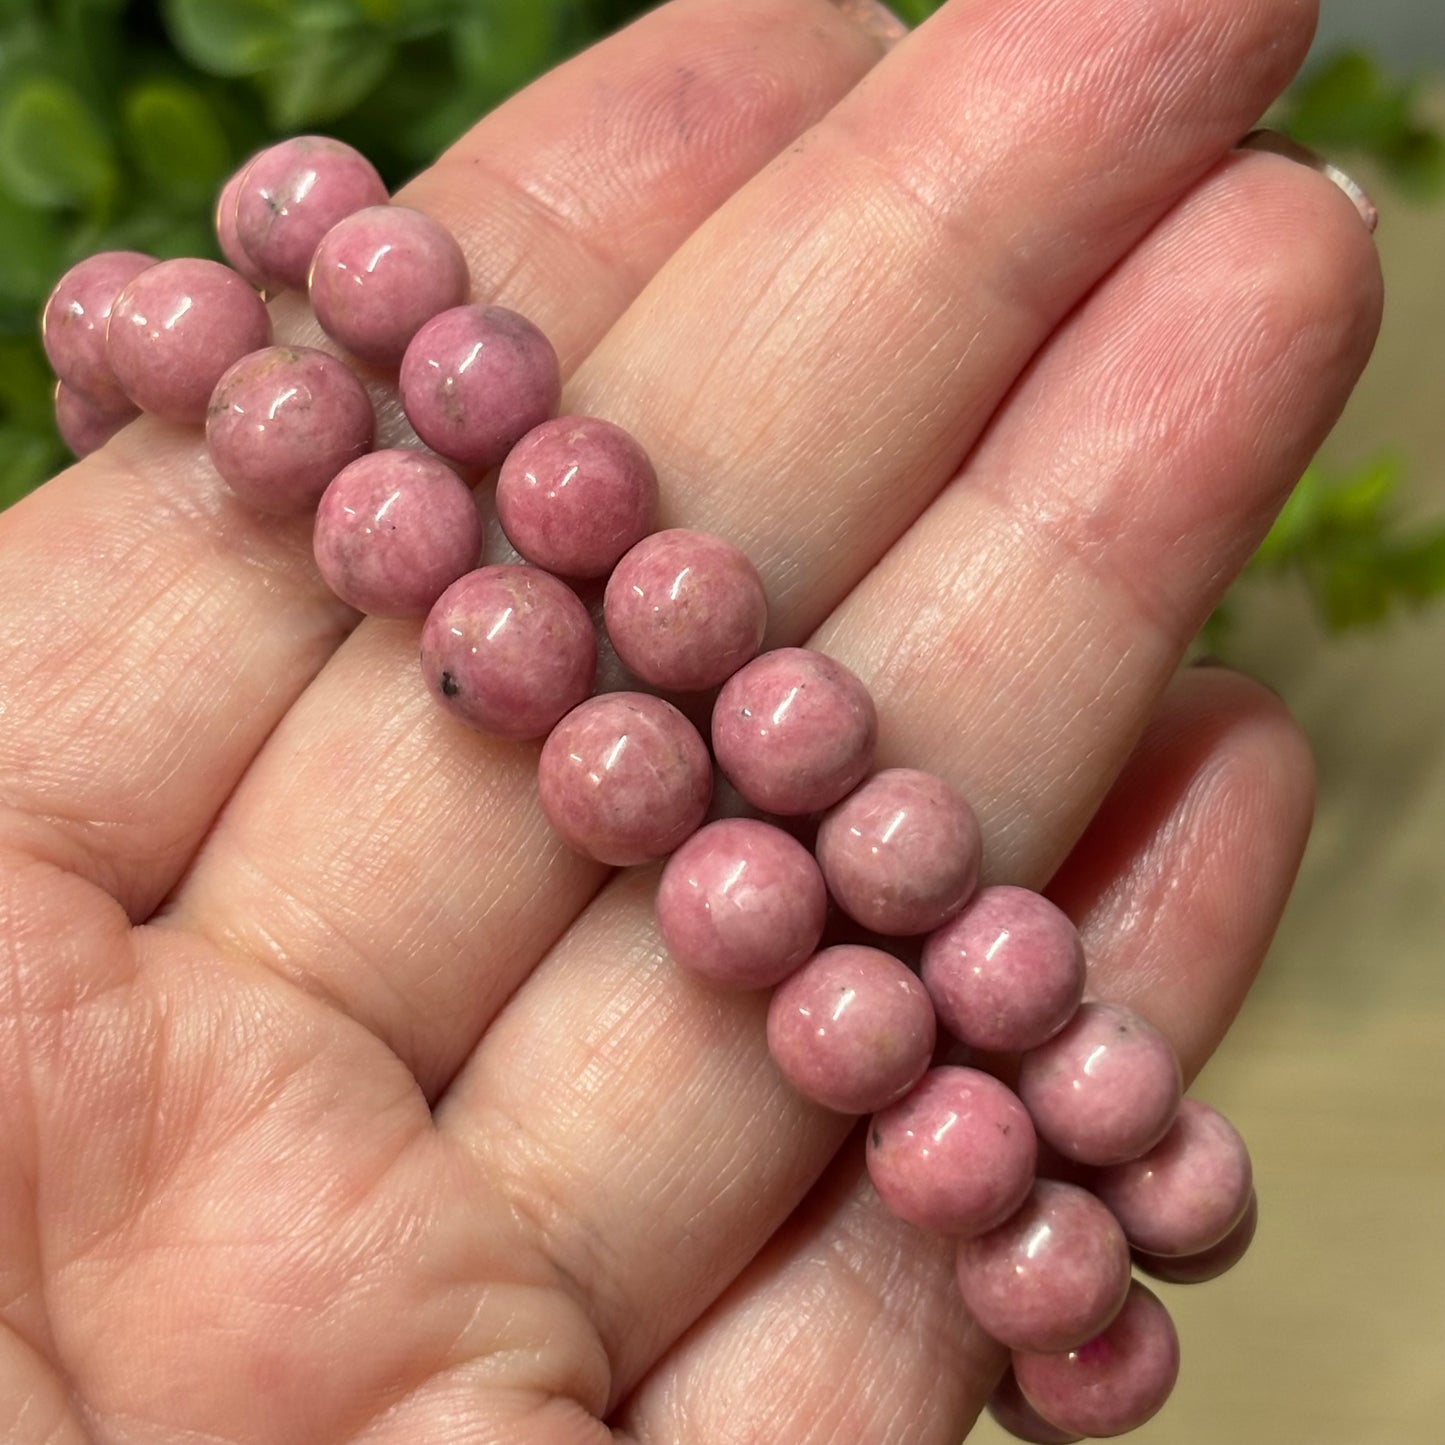
[(822, 821), (818, 863), (828, 890), (876, 933), (926, 933), (978, 881), (983, 840), (972, 808), (942, 777), (889, 767)]

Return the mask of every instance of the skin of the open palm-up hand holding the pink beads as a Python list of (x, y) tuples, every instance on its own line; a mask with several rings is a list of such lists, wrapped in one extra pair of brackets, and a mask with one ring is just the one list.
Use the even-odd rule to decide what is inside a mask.
[[(987, 876), (1062, 864), (1191, 1072), (1312, 785), (1273, 696), (1175, 668), (1379, 316), (1350, 201), (1228, 155), (1311, 19), (970, 0), (883, 59), (825, 0), (679, 0), (402, 195)], [(308, 540), (144, 420), (0, 517), (0, 1433), (955, 1445), (1003, 1361), (948, 1244)]]

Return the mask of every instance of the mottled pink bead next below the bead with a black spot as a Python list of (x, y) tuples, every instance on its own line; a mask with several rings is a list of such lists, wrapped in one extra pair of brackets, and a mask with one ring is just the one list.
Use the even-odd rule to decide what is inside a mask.
[(712, 796), (712, 763), (672, 704), (608, 692), (552, 730), (538, 793), (572, 848), (626, 867), (666, 857), (698, 828)]

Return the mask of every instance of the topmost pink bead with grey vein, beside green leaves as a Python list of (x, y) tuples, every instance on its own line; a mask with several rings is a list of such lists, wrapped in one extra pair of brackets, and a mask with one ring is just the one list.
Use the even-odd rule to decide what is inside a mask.
[(241, 175), (236, 240), (267, 288), (302, 290), (327, 231), (386, 199), (386, 184), (361, 152), (329, 136), (295, 136), (263, 150)]

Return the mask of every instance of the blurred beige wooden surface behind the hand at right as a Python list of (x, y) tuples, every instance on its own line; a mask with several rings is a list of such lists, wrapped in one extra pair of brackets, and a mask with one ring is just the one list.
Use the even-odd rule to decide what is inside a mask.
[[(1327, 458), (1399, 447), (1445, 516), (1445, 205), (1376, 186), (1380, 348)], [(1327, 640), (1257, 595), (1231, 660), (1319, 763), (1285, 925), (1195, 1092), (1254, 1152), (1260, 1233), (1225, 1279), (1159, 1286), (1183, 1342), (1139, 1445), (1445, 1445), (1445, 603)], [(991, 1422), (970, 1445), (1004, 1441)]]

